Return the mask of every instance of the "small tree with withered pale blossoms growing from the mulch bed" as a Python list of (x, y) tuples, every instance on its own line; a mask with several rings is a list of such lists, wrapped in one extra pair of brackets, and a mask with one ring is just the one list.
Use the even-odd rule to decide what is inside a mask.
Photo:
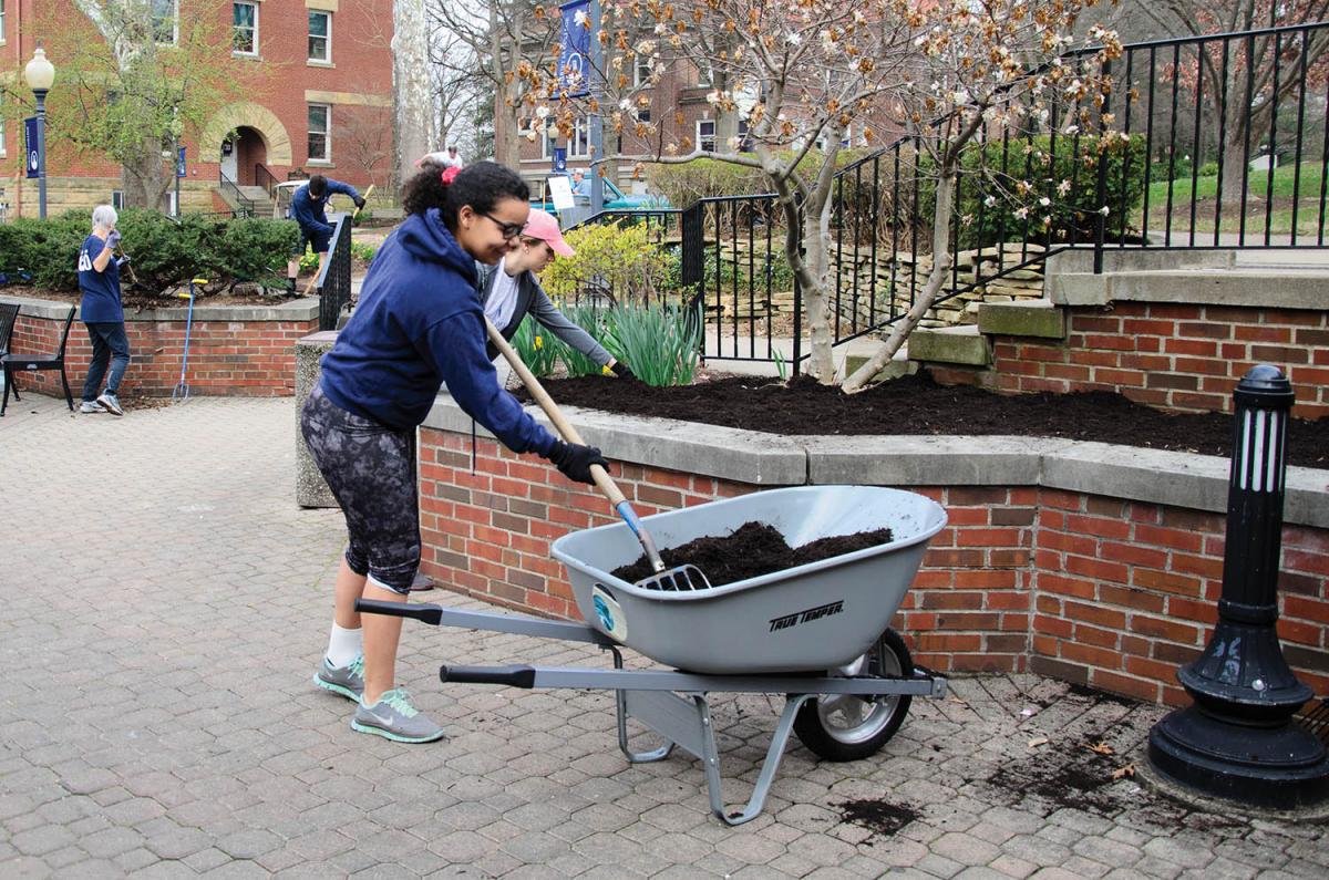
[[(607, 112), (615, 130), (646, 124), (634, 108), (642, 86), (621, 76), (649, 64), (651, 80), (662, 68), (687, 62), (723, 77), (708, 101), (718, 114), (747, 120), (748, 144), (735, 136), (715, 152), (703, 152), (686, 134), (654, 154), (597, 157), (683, 164), (720, 160), (762, 171), (777, 194), (785, 219), (785, 258), (803, 290), (809, 350), (807, 371), (835, 382), (832, 359), (831, 214), (836, 161), (845, 132), (878, 141), (872, 121), (889, 117), (916, 133), (932, 154), (936, 183), (933, 269), (908, 316), (869, 364), (844, 382), (845, 391), (865, 387), (898, 350), (940, 294), (952, 255), (949, 230), (960, 158), (979, 130), (1018, 128), (1026, 114), (1043, 114), (1057, 101), (1100, 104), (1106, 88), (1099, 65), (1115, 57), (1115, 35), (1092, 28), (1086, 41), (1104, 48), (1070, 66), (1059, 55), (1076, 40), (1082, 9), (1096, 0), (678, 0), (672, 4), (605, 0), (606, 51), (602, 88), (587, 101)], [(724, 35), (715, 39), (716, 35)], [(549, 82), (533, 88), (554, 94)], [(541, 108), (537, 108), (540, 110)], [(550, 101), (560, 128), (579, 108)], [(658, 124), (657, 124), (658, 125)], [(645, 138), (642, 138), (645, 140)], [(821, 142), (824, 149), (815, 146)], [(1103, 141), (1104, 144), (1107, 140)], [(751, 146), (751, 152), (740, 152)], [(1022, 191), (1031, 193), (1025, 187)]]

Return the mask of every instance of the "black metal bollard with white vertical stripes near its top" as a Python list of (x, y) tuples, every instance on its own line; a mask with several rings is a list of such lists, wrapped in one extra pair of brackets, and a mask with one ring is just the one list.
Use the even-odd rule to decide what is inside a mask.
[(1156, 723), (1148, 751), (1183, 788), (1281, 810), (1329, 798), (1329, 755), (1292, 720), (1313, 694), (1288, 669), (1275, 630), (1293, 397), (1269, 364), (1237, 384), (1219, 622), (1200, 658), (1177, 673), (1195, 705)]

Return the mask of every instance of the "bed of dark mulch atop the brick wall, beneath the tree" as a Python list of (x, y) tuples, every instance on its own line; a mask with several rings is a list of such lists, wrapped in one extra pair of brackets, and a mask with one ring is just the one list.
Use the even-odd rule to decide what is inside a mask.
[[(784, 435), (1026, 435), (1224, 456), (1232, 417), (1171, 415), (1107, 392), (998, 395), (918, 374), (847, 396), (807, 376), (734, 376), (679, 388), (602, 378), (546, 383), (563, 405)], [(1329, 419), (1293, 419), (1288, 461), (1329, 468)]]

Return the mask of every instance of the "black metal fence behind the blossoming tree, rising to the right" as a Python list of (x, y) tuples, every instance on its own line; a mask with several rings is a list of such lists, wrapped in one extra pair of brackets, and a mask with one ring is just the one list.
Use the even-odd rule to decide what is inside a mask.
[[(1074, 77), (1091, 56), (1061, 65)], [(1103, 69), (1100, 104), (1045, 93), (1041, 105), (1025, 101), (1019, 125), (981, 126), (961, 153), (953, 261), (929, 319), (964, 322), (997, 288), (1041, 295), (1045, 261), (1073, 247), (1092, 251), (1095, 273), (1108, 250), (1324, 247), (1326, 68), (1329, 23), (1132, 44)], [(835, 344), (881, 332), (924, 291), (937, 144), (910, 134), (836, 174)], [(587, 221), (605, 222), (658, 222), (661, 246), (678, 249), (679, 283), (706, 319), (706, 358), (804, 358), (803, 295), (775, 195)]]

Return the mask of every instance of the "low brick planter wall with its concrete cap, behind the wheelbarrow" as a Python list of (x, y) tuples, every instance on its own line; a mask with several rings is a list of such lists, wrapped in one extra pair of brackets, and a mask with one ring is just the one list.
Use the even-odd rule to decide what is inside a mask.
[[(1223, 459), (1002, 437), (776, 437), (575, 412), (622, 455), (638, 513), (779, 485), (890, 485), (950, 522), (897, 614), (921, 663), (1037, 671), (1177, 705), (1176, 670), (1205, 645), (1221, 592)], [(704, 449), (706, 455), (699, 455)], [(557, 537), (617, 521), (605, 500), (485, 435), (451, 403), (420, 433), (423, 570), (514, 609), (578, 618)], [(1278, 633), (1329, 693), (1329, 477), (1289, 469)]]

